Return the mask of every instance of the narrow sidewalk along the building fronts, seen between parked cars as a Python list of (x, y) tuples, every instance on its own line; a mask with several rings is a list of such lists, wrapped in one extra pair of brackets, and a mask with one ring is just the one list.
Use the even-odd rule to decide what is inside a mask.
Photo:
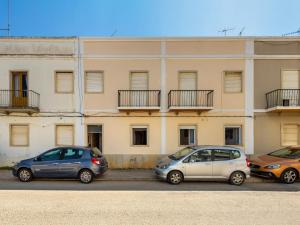
[[(10, 170), (0, 170), (1, 180), (14, 180)], [(156, 181), (157, 178), (153, 170), (146, 169), (128, 169), (128, 170), (108, 170), (102, 176), (98, 176), (98, 181)], [(251, 177), (246, 183), (270, 183), (273, 180)]]

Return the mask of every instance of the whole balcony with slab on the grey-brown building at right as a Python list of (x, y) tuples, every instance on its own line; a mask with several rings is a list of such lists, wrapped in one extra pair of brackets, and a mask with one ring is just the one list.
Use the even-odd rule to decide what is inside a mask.
[(277, 89), (266, 94), (267, 111), (300, 112), (300, 89)]

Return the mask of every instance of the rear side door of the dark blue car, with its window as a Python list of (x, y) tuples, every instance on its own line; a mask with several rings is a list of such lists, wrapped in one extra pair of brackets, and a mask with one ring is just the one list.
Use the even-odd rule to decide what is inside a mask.
[(84, 150), (76, 148), (64, 148), (60, 161), (60, 173), (62, 177), (77, 177), (81, 169), (81, 157)]

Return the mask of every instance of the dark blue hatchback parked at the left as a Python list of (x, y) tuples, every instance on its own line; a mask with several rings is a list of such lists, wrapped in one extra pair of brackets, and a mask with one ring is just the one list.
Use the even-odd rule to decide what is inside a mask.
[(107, 169), (108, 163), (99, 149), (69, 146), (20, 161), (13, 167), (13, 175), (22, 182), (33, 178), (78, 178), (87, 184)]

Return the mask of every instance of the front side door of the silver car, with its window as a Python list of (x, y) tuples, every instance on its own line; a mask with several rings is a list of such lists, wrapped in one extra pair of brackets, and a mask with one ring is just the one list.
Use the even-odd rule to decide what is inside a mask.
[(186, 178), (210, 178), (212, 176), (211, 150), (200, 150), (184, 160)]

